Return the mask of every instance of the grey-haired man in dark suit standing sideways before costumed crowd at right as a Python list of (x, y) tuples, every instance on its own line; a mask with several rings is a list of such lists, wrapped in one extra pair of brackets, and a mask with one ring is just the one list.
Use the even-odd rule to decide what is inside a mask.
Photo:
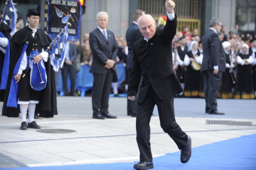
[(221, 21), (218, 18), (210, 20), (210, 28), (204, 34), (203, 61), (201, 71), (204, 80), (205, 112), (209, 114), (224, 114), (217, 110), (217, 96), (222, 73), (226, 70), (226, 56), (218, 33)]

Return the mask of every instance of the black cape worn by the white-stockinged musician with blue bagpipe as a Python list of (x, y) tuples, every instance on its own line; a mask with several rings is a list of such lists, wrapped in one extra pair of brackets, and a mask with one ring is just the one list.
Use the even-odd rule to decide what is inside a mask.
[[(2, 116), (8, 116), (8, 117), (19, 116), (19, 113), (20, 113), (19, 107), (17, 108), (7, 107), (7, 100), (9, 97), (11, 79), (13, 78), (14, 67), (21, 56), (24, 44), (30, 43), (31, 33), (32, 33), (32, 30), (28, 28), (28, 26), (26, 26), (21, 30), (17, 31), (11, 38), (10, 43), (12, 44), (12, 46), (11, 46), (11, 52), (10, 52), (11, 54), (10, 54), (9, 76), (7, 80), (6, 94), (4, 96)], [(50, 45), (50, 42), (52, 42), (52, 40), (40, 29), (37, 29), (37, 34), (43, 49), (46, 49)], [(48, 59), (47, 62), (44, 62), (44, 64), (46, 67), (47, 84), (46, 84), (46, 88), (43, 90), (43, 96), (39, 101), (39, 103), (37, 104), (36, 113), (39, 113), (40, 117), (49, 118), (49, 117), (53, 117), (54, 114), (55, 115), (58, 114), (57, 101), (56, 101), (55, 73), (53, 71), (52, 65), (50, 64), (50, 59)]]

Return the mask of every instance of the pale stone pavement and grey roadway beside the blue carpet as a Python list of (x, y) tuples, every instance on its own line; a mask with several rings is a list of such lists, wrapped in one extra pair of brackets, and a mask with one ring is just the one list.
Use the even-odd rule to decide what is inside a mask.
[[(0, 116), (0, 168), (61, 166), (133, 162), (139, 160), (135, 120), (126, 116), (126, 98), (109, 100), (109, 112), (117, 119), (92, 119), (91, 97), (57, 97), (59, 114), (36, 119), (41, 130), (20, 130), (21, 118)], [(225, 115), (204, 113), (204, 99), (175, 98), (176, 121), (192, 138), (192, 147), (256, 133), (256, 100), (218, 99)], [(2, 108), (2, 102), (0, 102)], [(1, 113), (2, 109), (0, 110)], [(1, 113), (2, 114), (2, 113)], [(211, 125), (208, 121), (252, 123), (252, 126)], [(157, 111), (151, 122), (154, 157), (179, 151), (160, 127)], [(193, 157), (193, 153), (192, 153)], [(176, 160), (180, 161), (177, 157)], [(131, 167), (132, 168), (132, 167)]]

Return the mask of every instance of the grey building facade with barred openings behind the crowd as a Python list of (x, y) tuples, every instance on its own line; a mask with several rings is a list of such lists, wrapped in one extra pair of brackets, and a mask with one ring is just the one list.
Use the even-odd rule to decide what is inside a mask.
[[(13, 0), (19, 17), (26, 21), (26, 12), (29, 8), (36, 8), (38, 3), (45, 5), (45, 0)], [(86, 0), (85, 14), (82, 15), (80, 37), (97, 27), (96, 15), (99, 11), (108, 13), (107, 29), (117, 36), (125, 37), (126, 30), (132, 22), (132, 14), (141, 9), (152, 15), (156, 20), (159, 15), (166, 15), (165, 0)], [(4, 8), (1, 1), (0, 10)], [(228, 31), (234, 31), (235, 24), (241, 24), (241, 32), (254, 33), (256, 0), (178, 0), (175, 13), (178, 16), (178, 30), (188, 25), (190, 30), (197, 28), (202, 36), (209, 28), (209, 21), (213, 17), (221, 20)], [(44, 13), (41, 11), (40, 28), (44, 26)]]

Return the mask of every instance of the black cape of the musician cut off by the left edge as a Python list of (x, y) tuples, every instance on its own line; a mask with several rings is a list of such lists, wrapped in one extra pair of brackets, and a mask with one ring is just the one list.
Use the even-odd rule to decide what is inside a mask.
[[(10, 35), (11, 28), (8, 25), (4, 24), (4, 22), (1, 22), (0, 32), (2, 32), (2, 34), (4, 34), (4, 36), (10, 41), (10, 39), (11, 39), (11, 35)], [(2, 69), (3, 69), (3, 65), (4, 65), (4, 56), (5, 56), (5, 54), (0, 50), (0, 60), (1, 60), (0, 61), (0, 63), (1, 63), (0, 73), (3, 72)], [(1, 78), (2, 78), (2, 76), (0, 75), (0, 82), (1, 82)], [(0, 90), (0, 101), (4, 101), (4, 93), (5, 93), (5, 90)]]

